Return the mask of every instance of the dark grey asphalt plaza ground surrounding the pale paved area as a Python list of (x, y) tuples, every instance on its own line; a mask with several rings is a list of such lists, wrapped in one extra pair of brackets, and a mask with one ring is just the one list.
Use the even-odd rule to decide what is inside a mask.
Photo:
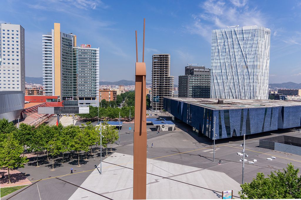
[[(161, 116), (165, 117), (167, 120), (171, 119), (171, 117), (167, 117), (165, 115)], [(152, 131), (155, 128), (154, 126), (147, 126), (147, 143), (149, 146), (152, 142), (154, 143), (154, 148), (147, 148), (147, 158), (224, 172), (238, 183), (241, 183), (242, 163), (239, 159), (242, 157), (238, 156), (236, 153), (241, 152), (242, 150), (240, 144), (243, 142), (243, 137), (216, 140), (215, 162), (213, 162), (213, 141), (206, 136), (198, 137), (197, 133), (192, 130), (192, 127), (185, 123), (176, 122), (175, 124), (175, 131), (161, 131), (160, 134), (157, 134), (157, 131)], [(131, 123), (131, 127), (133, 131), (134, 123)], [(185, 131), (180, 131), (180, 129)], [(251, 135), (250, 139), (246, 140), (246, 153), (249, 155), (246, 159), (248, 161), (256, 159), (257, 162), (255, 164), (245, 163), (245, 182), (252, 181), (252, 179), (256, 177), (257, 172), (262, 172), (267, 175), (273, 170), (287, 167), (287, 163), (290, 162), (295, 166), (295, 168), (301, 168), (301, 156), (258, 147), (259, 139), (272, 137), (274, 135), (301, 137), (300, 133), (290, 130)], [(166, 144), (164, 142), (166, 142)], [(133, 133), (129, 134), (129, 123), (123, 123), (123, 128), (120, 130), (120, 145), (117, 143), (118, 142), (112, 145), (114, 150), (113, 152), (133, 155)], [(18, 170), (26, 173), (28, 175), (27, 178), (30, 181), (37, 181), (40, 179), (46, 180), (33, 182), (33, 185), (13, 192), (10, 195), (2, 197), (2, 199), (40, 200), (40, 197), (41, 199), (68, 199), (75, 192), (78, 186), (80, 186), (88, 177), (92, 170), (95, 169), (94, 165), (99, 164), (100, 157), (99, 155), (96, 157), (97, 153), (99, 154), (99, 151), (96, 151), (95, 146), (94, 152), (93, 156), (95, 157), (95, 161), (92, 156), (85, 161), (83, 160), (85, 154), (81, 154), (81, 167), (77, 167), (76, 153), (73, 153), (73, 159), (69, 159), (64, 164), (61, 164), (61, 158), (57, 158), (55, 171), (51, 171), (52, 162), (48, 162), (47, 159), (45, 159), (45, 156), (39, 156), (41, 167), (35, 167), (36, 158), (32, 158), (24, 168), (20, 168)], [(66, 154), (66, 156), (69, 157), (69, 153)], [(266, 160), (266, 158), (270, 158), (271, 156), (275, 156), (276, 159), (272, 161)], [(43, 157), (44, 161), (42, 161)], [(105, 157), (103, 157), (103, 159), (104, 158)], [(218, 164), (219, 160), (221, 160), (221, 164)], [(70, 167), (73, 167), (74, 169), (74, 173), (71, 175), (69, 174)], [(66, 176), (57, 177), (62, 175)], [(66, 180), (69, 183), (54, 177)], [(16, 193), (18, 194), (15, 195)], [(11, 196), (13, 197), (11, 198)]]

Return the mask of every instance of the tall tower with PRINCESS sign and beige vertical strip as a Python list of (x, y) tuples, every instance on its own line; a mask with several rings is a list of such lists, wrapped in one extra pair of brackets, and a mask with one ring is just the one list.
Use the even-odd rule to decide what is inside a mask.
[(62, 33), (54, 23), (51, 33), (43, 35), (43, 85), (45, 95), (59, 95), (61, 100), (73, 99), (73, 50), (76, 35)]

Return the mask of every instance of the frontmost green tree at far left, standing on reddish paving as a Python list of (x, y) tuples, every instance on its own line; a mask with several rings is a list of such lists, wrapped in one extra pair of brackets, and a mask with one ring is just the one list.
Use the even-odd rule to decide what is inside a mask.
[(8, 183), (11, 183), (9, 170), (16, 167), (24, 167), (23, 163), (28, 162), (26, 157), (21, 157), (23, 147), (14, 137), (13, 133), (8, 133), (7, 138), (0, 144), (0, 167), (8, 168)]

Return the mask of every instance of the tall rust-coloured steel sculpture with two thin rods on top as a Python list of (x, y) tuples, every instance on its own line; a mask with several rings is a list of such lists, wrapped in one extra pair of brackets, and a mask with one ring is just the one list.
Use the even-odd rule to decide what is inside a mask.
[[(145, 19), (142, 61), (144, 61), (144, 32)], [(146, 199), (146, 66), (144, 62), (138, 62), (137, 31), (136, 61), (133, 199)]]

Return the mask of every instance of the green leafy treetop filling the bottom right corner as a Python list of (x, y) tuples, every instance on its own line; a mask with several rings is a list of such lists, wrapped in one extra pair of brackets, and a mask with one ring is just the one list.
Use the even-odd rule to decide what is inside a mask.
[(278, 170), (271, 172), (268, 177), (263, 173), (257, 173), (251, 183), (241, 186), (242, 192), (238, 192), (242, 199), (276, 199), (276, 198), (301, 198), (301, 176), (299, 169), (294, 169), (290, 163), (283, 172)]

